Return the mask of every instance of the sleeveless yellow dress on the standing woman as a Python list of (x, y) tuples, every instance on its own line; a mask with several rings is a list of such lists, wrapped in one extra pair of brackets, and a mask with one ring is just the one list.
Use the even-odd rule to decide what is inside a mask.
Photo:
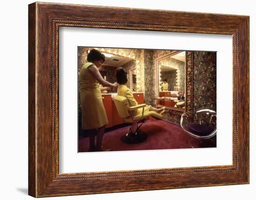
[(87, 70), (90, 65), (94, 64), (84, 64), (79, 75), (82, 129), (98, 129), (108, 124), (100, 84)]

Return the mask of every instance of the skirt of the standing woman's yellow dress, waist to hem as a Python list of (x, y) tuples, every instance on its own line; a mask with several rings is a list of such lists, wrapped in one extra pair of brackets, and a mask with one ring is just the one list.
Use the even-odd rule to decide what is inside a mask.
[(108, 124), (108, 117), (102, 102), (100, 88), (86, 88), (80, 91), (82, 129), (98, 129)]

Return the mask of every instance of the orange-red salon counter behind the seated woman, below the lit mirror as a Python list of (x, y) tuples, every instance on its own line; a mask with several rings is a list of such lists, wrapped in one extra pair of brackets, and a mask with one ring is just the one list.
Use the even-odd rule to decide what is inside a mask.
[[(106, 128), (123, 123), (123, 119), (118, 115), (115, 103), (112, 101), (112, 98), (115, 96), (117, 96), (117, 93), (102, 94), (102, 101), (108, 117), (108, 125), (106, 126)], [(133, 92), (133, 96), (138, 104), (144, 103), (143, 92)]]

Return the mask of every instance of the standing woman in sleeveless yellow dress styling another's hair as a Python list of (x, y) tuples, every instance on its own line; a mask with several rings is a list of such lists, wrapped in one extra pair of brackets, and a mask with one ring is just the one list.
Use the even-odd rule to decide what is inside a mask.
[[(103, 87), (116, 87), (118, 84), (109, 83), (100, 74), (98, 68), (105, 62), (104, 54), (92, 49), (88, 53), (87, 60), (88, 63), (82, 66), (79, 77), (82, 130), (86, 130), (89, 134), (89, 151), (104, 151), (101, 142), (108, 118), (102, 102), (100, 84)], [(96, 145), (95, 135), (97, 135)]]

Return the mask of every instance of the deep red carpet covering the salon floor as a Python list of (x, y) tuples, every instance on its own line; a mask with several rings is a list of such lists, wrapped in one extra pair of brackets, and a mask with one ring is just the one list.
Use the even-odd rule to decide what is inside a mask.
[[(141, 126), (141, 130), (147, 133), (148, 138), (139, 144), (121, 142), (121, 136), (125, 135), (128, 129), (129, 126), (105, 133), (102, 146), (105, 149), (110, 148), (111, 151), (216, 147), (216, 136), (206, 140), (195, 139), (183, 131), (181, 127), (162, 120), (147, 120)], [(88, 148), (89, 138), (80, 138), (79, 152), (87, 152)]]

